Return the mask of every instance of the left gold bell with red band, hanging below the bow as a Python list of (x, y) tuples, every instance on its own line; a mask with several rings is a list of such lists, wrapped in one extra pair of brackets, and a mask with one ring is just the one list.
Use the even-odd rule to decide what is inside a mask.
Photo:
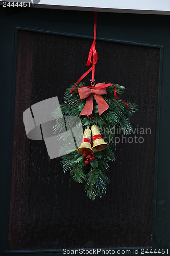
[(87, 150), (87, 153), (89, 153), (89, 154), (94, 153), (94, 151), (91, 148), (91, 130), (89, 127), (87, 127), (84, 130), (81, 146), (77, 149), (77, 151), (81, 154), (83, 154), (84, 150)]

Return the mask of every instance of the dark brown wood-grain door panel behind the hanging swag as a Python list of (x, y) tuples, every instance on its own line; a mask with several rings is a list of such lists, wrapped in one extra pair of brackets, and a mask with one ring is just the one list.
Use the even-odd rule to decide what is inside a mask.
[[(99, 41), (96, 82), (127, 88), (120, 97), (138, 105), (110, 164), (107, 196), (91, 201), (83, 186), (50, 160), (43, 141), (26, 138), (22, 114), (30, 105), (58, 96), (88, 69), (92, 40), (19, 31), (9, 250), (150, 246), (160, 49)], [(89, 84), (91, 74), (84, 82)], [(121, 138), (121, 135), (117, 135)]]

